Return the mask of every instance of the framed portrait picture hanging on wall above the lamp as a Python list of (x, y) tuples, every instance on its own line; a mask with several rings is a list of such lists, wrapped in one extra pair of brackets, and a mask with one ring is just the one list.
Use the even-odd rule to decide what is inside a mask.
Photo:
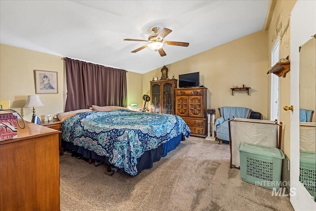
[(57, 72), (35, 70), (35, 89), (37, 94), (58, 93)]

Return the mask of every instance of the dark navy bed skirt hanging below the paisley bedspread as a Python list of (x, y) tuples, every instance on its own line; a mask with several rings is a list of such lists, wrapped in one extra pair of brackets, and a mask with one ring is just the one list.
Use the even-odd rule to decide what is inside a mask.
[[(144, 152), (140, 158), (137, 158), (137, 172), (140, 173), (143, 169), (152, 168), (153, 163), (158, 162), (161, 157), (165, 157), (168, 152), (174, 150), (180, 144), (180, 142), (184, 140), (185, 135), (181, 133), (180, 135), (171, 138), (169, 141), (159, 145), (156, 149)], [(77, 153), (81, 154), (83, 158), (104, 161), (106, 164), (110, 164), (108, 161), (109, 157), (97, 155), (95, 152), (87, 150), (81, 146), (76, 146), (72, 142), (62, 141), (62, 147), (64, 148), (64, 151), (76, 151)], [(124, 169), (121, 169), (121, 172), (125, 172)]]

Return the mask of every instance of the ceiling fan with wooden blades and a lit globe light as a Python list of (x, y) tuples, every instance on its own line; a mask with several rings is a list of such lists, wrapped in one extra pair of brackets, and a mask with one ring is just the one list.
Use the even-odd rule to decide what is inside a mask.
[(150, 35), (148, 37), (148, 40), (135, 40), (135, 39), (124, 39), (124, 41), (139, 41), (139, 42), (150, 42), (147, 45), (141, 46), (137, 48), (136, 50), (131, 51), (132, 53), (136, 53), (137, 51), (140, 51), (141, 49), (144, 49), (146, 47), (149, 47), (152, 50), (158, 51), (160, 56), (167, 55), (164, 50), (162, 49), (162, 46), (164, 44), (168, 45), (177, 45), (177, 46), (183, 46), (188, 47), (189, 42), (174, 42), (174, 41), (163, 41), (163, 39), (172, 32), (171, 29), (163, 28), (159, 34), (159, 27), (153, 27), (152, 31), (154, 32), (153, 35)]

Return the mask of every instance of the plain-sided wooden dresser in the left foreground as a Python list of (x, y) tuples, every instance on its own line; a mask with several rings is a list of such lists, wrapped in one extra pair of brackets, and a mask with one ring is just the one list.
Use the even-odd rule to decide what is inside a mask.
[(1, 211), (60, 210), (59, 133), (26, 122), (18, 138), (0, 141)]

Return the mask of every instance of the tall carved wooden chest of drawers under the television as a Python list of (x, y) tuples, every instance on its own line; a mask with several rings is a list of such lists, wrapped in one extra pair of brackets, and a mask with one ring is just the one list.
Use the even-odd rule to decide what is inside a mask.
[(182, 117), (192, 136), (206, 137), (207, 134), (207, 88), (176, 88), (176, 115)]

